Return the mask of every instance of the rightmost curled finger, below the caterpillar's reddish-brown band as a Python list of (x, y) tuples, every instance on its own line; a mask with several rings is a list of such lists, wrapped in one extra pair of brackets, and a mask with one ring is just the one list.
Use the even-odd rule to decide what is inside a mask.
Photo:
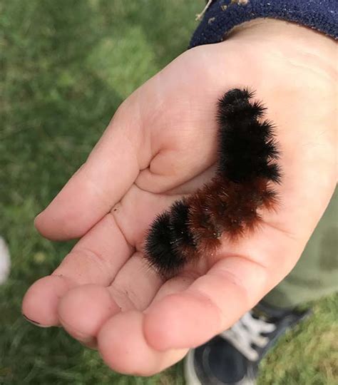
[[(264, 247), (259, 247), (262, 239), (255, 240), (256, 245), (251, 240), (242, 247), (242, 257), (240, 254), (223, 257), (183, 292), (174, 292), (159, 301), (155, 297), (144, 321), (145, 338), (150, 346), (159, 351), (197, 347), (254, 307), (295, 263), (293, 242), (286, 242), (283, 235), (280, 240), (277, 235), (272, 240), (270, 245), (265, 242)], [(289, 245), (283, 247), (283, 243)], [(280, 246), (280, 255), (274, 252), (274, 244), (277, 244), (275, 250)], [(267, 252), (270, 259), (267, 255), (249, 259), (245, 257), (245, 249), (253, 255)]]

